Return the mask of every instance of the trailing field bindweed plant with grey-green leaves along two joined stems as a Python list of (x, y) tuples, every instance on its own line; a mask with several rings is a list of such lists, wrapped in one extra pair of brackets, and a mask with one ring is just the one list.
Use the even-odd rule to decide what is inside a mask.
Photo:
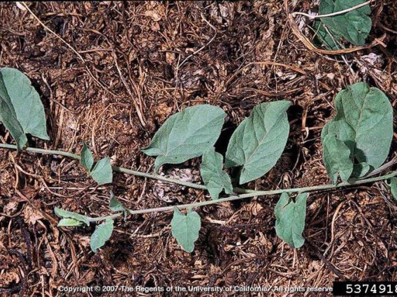
[[(214, 148), (226, 117), (223, 109), (213, 105), (194, 105), (173, 114), (161, 125), (150, 144), (142, 149), (146, 155), (156, 157), (154, 173), (112, 167), (109, 158), (95, 161), (85, 142), (82, 143), (81, 155), (27, 147), (27, 134), (45, 140), (49, 137), (38, 93), (19, 70), (1, 69), (0, 100), (1, 122), (16, 142), (16, 145), (0, 144), (0, 148), (64, 155), (80, 160), (88, 176), (99, 185), (112, 183), (113, 172), (122, 172), (210, 193), (211, 199), (207, 201), (143, 210), (127, 208), (110, 193), (109, 211), (112, 214), (99, 218), (56, 207), (59, 227), (97, 224), (90, 241), (93, 252), (97, 252), (108, 241), (116, 218), (160, 211), (173, 211), (172, 235), (186, 252), (193, 252), (201, 229), (201, 218), (194, 208), (265, 195), (281, 195), (275, 205), (276, 234), (291, 248), (301, 248), (305, 243), (303, 231), (309, 192), (387, 181), (391, 195), (397, 200), (397, 172), (370, 177), (382, 172), (382, 165), (389, 155), (393, 137), (393, 108), (380, 89), (363, 82), (348, 86), (338, 93), (334, 102), (337, 114), (322, 130), (324, 165), (331, 184), (266, 191), (248, 190), (239, 185), (264, 176), (282, 155), (289, 136), (287, 110), (291, 102), (287, 100), (264, 102), (254, 107), (251, 115), (231, 135), (225, 159)], [(201, 158), (203, 184), (157, 174), (162, 165), (179, 164), (192, 158)], [(238, 167), (238, 175), (229, 176), (224, 167)], [(296, 195), (291, 197), (291, 194)], [(184, 209), (187, 213), (182, 212)]]

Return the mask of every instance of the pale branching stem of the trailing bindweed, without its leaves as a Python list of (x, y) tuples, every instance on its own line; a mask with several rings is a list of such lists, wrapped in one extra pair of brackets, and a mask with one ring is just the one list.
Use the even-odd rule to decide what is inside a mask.
[[(0, 144), (0, 148), (9, 148), (9, 149), (16, 150), (17, 146), (15, 146), (13, 144)], [(53, 151), (53, 150), (47, 150), (47, 149), (43, 149), (43, 148), (26, 148), (25, 151), (29, 151), (32, 153), (47, 154), (47, 155), (64, 155), (69, 158), (80, 160), (80, 155), (75, 155), (74, 153), (68, 153), (65, 151)], [(199, 185), (197, 183), (189, 183), (186, 181), (180, 181), (175, 178), (167, 178), (165, 176), (160, 176), (158, 174), (148, 174), (145, 172), (138, 172), (138, 171), (123, 168), (123, 167), (113, 167), (113, 170), (115, 172), (121, 172), (124, 174), (132, 174), (135, 176), (157, 179), (159, 181), (165, 181), (167, 183), (176, 183), (176, 184), (187, 186), (189, 188), (196, 188), (196, 189), (201, 189), (201, 190), (207, 189), (205, 187), (205, 185)], [(322, 190), (335, 190), (338, 188), (349, 187), (352, 185), (362, 185), (365, 183), (373, 183), (375, 181), (384, 181), (384, 180), (387, 180), (394, 176), (397, 176), (397, 170), (394, 172), (390, 172), (389, 174), (382, 175), (382, 176), (365, 178), (365, 179), (357, 179), (357, 180), (353, 179), (353, 180), (345, 181), (345, 182), (338, 183), (335, 185), (332, 185), (332, 184), (331, 185), (315, 185), (312, 187), (266, 190), (266, 191), (234, 188), (233, 189), (234, 192), (236, 192), (239, 195), (232, 195), (232, 196), (220, 198), (217, 200), (194, 202), (194, 203), (190, 203), (190, 204), (180, 204), (180, 205), (176, 205), (176, 206), (163, 206), (163, 207), (157, 207), (157, 208), (146, 208), (146, 209), (141, 209), (141, 210), (131, 210), (131, 209), (126, 208), (126, 211), (127, 211), (127, 213), (129, 213), (131, 215), (138, 215), (138, 214), (144, 214), (144, 213), (159, 213), (159, 212), (164, 212), (164, 211), (173, 211), (173, 209), (175, 207), (178, 207), (179, 209), (195, 208), (195, 207), (206, 206), (206, 205), (210, 205), (210, 204), (219, 204), (219, 203), (226, 202), (226, 201), (240, 200), (240, 199), (245, 199), (245, 198), (250, 198), (250, 197), (255, 197), (255, 196), (278, 195), (278, 194), (282, 194), (283, 192), (299, 193), (299, 192), (318, 192), (318, 191), (322, 191)], [(117, 218), (117, 217), (122, 216), (123, 214), (124, 214), (124, 212), (120, 212), (120, 213), (115, 213), (113, 215), (106, 215), (106, 216), (98, 217), (98, 218), (88, 218), (88, 220), (89, 220), (89, 222), (99, 222), (102, 220), (110, 220), (113, 218)]]

